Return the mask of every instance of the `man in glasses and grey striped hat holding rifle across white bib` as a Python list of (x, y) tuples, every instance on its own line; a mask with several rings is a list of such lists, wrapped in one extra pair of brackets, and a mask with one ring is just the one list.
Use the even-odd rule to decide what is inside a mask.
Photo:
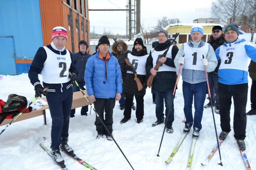
[[(173, 46), (168, 40), (168, 33), (165, 30), (160, 30), (157, 34), (158, 43), (155, 48), (152, 48), (148, 56), (146, 64), (147, 74), (156, 75), (153, 80), (152, 89), (156, 93), (156, 118), (157, 121), (152, 126), (164, 123), (164, 103), (165, 101), (165, 122), (166, 131), (172, 133), (172, 122), (174, 121), (174, 105), (172, 100), (172, 92), (176, 82), (176, 67), (174, 65), (174, 58), (179, 51), (177, 46)], [(169, 48), (166, 57), (161, 57), (165, 50)], [(160, 61), (162, 65), (158, 70), (154, 70), (156, 64)], [(169, 113), (170, 112), (170, 113)], [(168, 120), (167, 115), (169, 114)]]

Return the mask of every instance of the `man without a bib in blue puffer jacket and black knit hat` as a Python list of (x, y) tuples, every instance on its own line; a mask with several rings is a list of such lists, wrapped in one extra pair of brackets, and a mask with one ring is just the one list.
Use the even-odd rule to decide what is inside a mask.
[[(93, 102), (100, 119), (112, 133), (115, 100), (120, 100), (122, 93), (122, 74), (117, 58), (108, 52), (109, 46), (108, 37), (102, 36), (98, 43), (100, 50), (86, 63), (84, 80), (90, 102)], [(94, 123), (98, 132), (96, 138), (106, 135), (108, 140), (113, 140), (100, 119), (96, 116)]]

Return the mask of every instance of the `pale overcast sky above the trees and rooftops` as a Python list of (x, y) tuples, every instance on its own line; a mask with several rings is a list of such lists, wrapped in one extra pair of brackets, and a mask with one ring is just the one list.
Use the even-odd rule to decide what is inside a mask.
[[(89, 0), (89, 9), (126, 9), (128, 0)], [(134, 2), (134, 0), (132, 0)], [(140, 20), (144, 26), (156, 26), (157, 19), (179, 18), (193, 23), (193, 19), (211, 18), (212, 0), (141, 0)], [(89, 11), (90, 32), (126, 35), (126, 11)]]

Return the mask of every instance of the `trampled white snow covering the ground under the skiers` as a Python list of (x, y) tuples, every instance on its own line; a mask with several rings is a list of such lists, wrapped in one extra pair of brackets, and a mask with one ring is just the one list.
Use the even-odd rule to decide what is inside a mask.
[[(41, 79), (41, 75), (40, 75)], [(0, 80), (0, 99), (6, 101), (9, 94), (16, 93), (23, 95), (28, 99), (34, 98), (34, 87), (30, 84), (28, 74), (18, 76), (3, 76)], [(249, 78), (249, 94), (246, 111), (250, 110), (250, 88), (251, 78)], [(116, 102), (114, 108), (113, 136), (123, 150), (125, 156), (132, 164), (135, 170), (165, 170), (165, 169), (185, 169), (187, 166), (189, 150), (192, 142), (192, 132), (184, 139), (179, 151), (176, 153), (172, 162), (167, 164), (172, 150), (175, 148), (184, 128), (184, 100), (182, 96), (182, 80), (178, 83), (176, 98), (174, 99), (175, 120), (173, 122), (172, 134), (164, 133), (163, 143), (160, 150), (160, 157), (156, 154), (159, 149), (164, 124), (152, 127), (156, 121), (155, 105), (152, 104), (151, 90), (147, 89), (145, 99), (145, 116), (144, 121), (136, 123), (135, 111), (132, 111), (132, 118), (125, 124), (119, 122), (123, 118), (123, 111), (119, 109)], [(205, 104), (208, 100), (205, 100)], [(194, 109), (193, 109), (194, 111)], [(233, 122), (234, 106), (231, 107), (231, 123)], [(218, 135), (220, 129), (220, 116), (215, 114)], [(22, 170), (55, 170), (59, 167), (53, 163), (46, 152), (39, 146), (40, 143), (50, 148), (51, 116), (49, 110), (46, 110), (47, 125), (44, 125), (43, 117), (38, 116), (32, 119), (14, 122), (0, 135), (0, 169), (22, 169)], [(10, 120), (11, 121), (11, 120)], [(117, 148), (114, 141), (106, 139), (96, 140), (96, 127), (94, 125), (95, 114), (81, 116), (80, 108), (76, 109), (74, 118), (70, 119), (69, 124), (69, 142), (68, 144), (74, 149), (76, 155), (99, 170), (128, 170), (131, 169), (122, 153)], [(252, 169), (256, 168), (256, 116), (247, 116), (247, 133), (246, 133), (246, 151)], [(243, 159), (236, 147), (236, 141), (233, 137), (233, 130), (228, 135), (226, 141), (222, 144), (221, 158), (223, 167), (220, 163), (219, 153), (213, 156), (207, 166), (202, 166), (201, 162), (212, 151), (216, 144), (216, 136), (210, 108), (204, 109), (202, 120), (203, 129), (196, 141), (195, 154), (192, 163), (192, 169), (239, 169), (245, 170)], [(0, 126), (0, 131), (5, 126)], [(46, 141), (42, 137), (46, 137)], [(75, 160), (62, 154), (68, 169), (80, 170), (87, 169)]]

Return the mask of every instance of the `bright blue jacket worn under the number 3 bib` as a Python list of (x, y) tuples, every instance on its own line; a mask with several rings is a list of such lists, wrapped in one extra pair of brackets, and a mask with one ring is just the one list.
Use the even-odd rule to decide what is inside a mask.
[[(223, 44), (223, 46), (235, 47), (240, 45), (240, 43), (244, 41), (245, 41), (244, 39), (240, 39), (240, 40), (238, 39), (235, 41), (235, 43), (226, 42)], [(248, 57), (251, 58), (252, 61), (256, 62), (256, 48), (251, 45), (245, 44), (244, 49), (246, 51), (246, 54), (244, 55), (248, 55)], [(220, 47), (217, 48), (217, 50), (215, 51), (217, 60), (220, 60), (219, 53), (220, 53)], [(218, 71), (218, 75), (219, 75), (219, 82), (225, 85), (237, 85), (237, 84), (248, 83), (248, 71), (237, 70), (237, 69), (220, 69)]]

